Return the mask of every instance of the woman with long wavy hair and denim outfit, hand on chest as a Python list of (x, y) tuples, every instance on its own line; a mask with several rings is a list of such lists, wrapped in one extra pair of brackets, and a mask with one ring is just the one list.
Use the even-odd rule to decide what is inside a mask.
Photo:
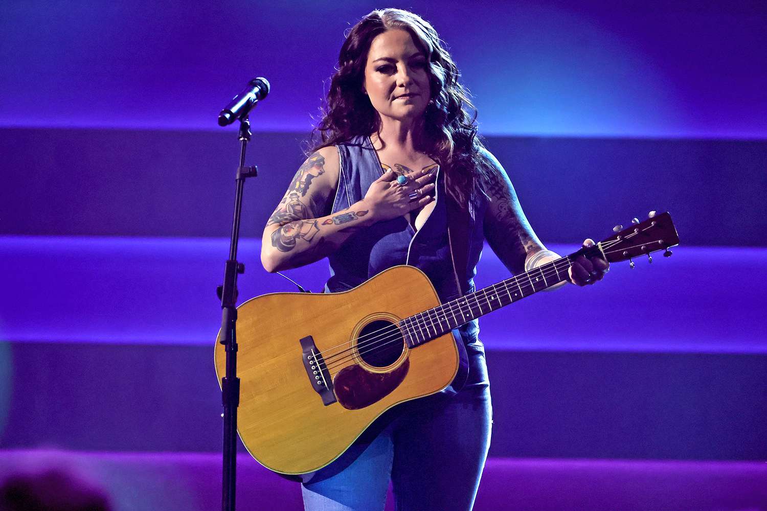
[[(474, 290), (486, 239), (514, 273), (558, 258), (530, 228), (509, 178), (482, 146), (458, 70), (433, 27), (407, 11), (373, 11), (349, 32), (318, 126), (264, 230), (268, 271), (328, 257), (326, 290), (351, 289), (398, 264), (419, 267), (441, 300)], [(592, 244), (587, 240), (586, 244)], [(572, 283), (600, 280), (584, 257)], [(384, 414), (333, 463), (304, 477), (306, 509), (471, 509), (491, 427), (479, 327), (459, 329), (469, 380), (457, 395)]]

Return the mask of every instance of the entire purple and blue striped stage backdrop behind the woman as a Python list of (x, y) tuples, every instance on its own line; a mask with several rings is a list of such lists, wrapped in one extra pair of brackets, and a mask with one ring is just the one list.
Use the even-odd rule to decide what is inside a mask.
[[(262, 225), (344, 30), (381, 6), (2, 2), (0, 467), (82, 450), (64, 457), (117, 509), (215, 506), (214, 288), (239, 150), (216, 116), (271, 81), (240, 289), (291, 291), (260, 267)], [(451, 48), (545, 243), (565, 253), (650, 209), (681, 239), (482, 319), (495, 427), (478, 509), (767, 509), (767, 3), (400, 6)], [(326, 271), (288, 273), (318, 290)], [(507, 276), (486, 251), (479, 285)], [(243, 484), (243, 505), (298, 506), (243, 465), (267, 492)]]

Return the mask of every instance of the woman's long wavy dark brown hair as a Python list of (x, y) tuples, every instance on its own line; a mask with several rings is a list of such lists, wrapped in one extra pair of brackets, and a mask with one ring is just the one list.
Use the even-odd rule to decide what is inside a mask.
[(322, 119), (312, 132), (311, 152), (380, 129), (380, 116), (363, 92), (365, 65), (374, 38), (393, 28), (408, 31), (429, 62), (426, 70), (431, 99), (424, 113), (421, 149), (446, 167), (453, 182), (460, 184), (449, 192), (464, 198), (464, 192), (470, 189), (467, 187), (482, 189), (492, 175), (481, 153), (484, 146), (477, 136), (476, 109), (468, 90), (459, 83), (458, 67), (436, 30), (410, 11), (395, 8), (372, 11), (351, 28), (338, 55)]

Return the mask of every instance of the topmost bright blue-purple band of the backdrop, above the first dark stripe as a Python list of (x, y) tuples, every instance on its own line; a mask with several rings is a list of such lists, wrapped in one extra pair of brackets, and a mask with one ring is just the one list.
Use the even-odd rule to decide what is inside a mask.
[[(0, 126), (215, 129), (255, 76), (261, 131), (304, 132), (375, 2), (3, 2)], [(767, 136), (767, 5), (423, 2), (482, 133)]]

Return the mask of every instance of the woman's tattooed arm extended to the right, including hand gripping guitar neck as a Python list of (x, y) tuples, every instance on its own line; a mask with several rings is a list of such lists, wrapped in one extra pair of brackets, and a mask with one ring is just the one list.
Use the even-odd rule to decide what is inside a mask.
[[(560, 256), (549, 251), (530, 226), (509, 175), (490, 152), (483, 155), (492, 169), (492, 179), (486, 185), (489, 205), (484, 218), (484, 231), (488, 244), (512, 274), (546, 264)], [(584, 241), (584, 246), (594, 241)], [(601, 280), (609, 265), (601, 257), (579, 257), (568, 270), (570, 282), (578, 286)], [(556, 287), (556, 286), (555, 286)]]

